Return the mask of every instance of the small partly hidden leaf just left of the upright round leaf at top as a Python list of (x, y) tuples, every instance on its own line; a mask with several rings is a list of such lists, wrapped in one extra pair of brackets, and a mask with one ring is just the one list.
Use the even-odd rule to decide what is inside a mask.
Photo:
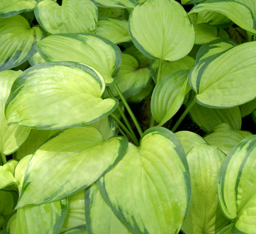
[(131, 40), (128, 22), (125, 19), (104, 17), (98, 20), (96, 35), (105, 37), (115, 44)]

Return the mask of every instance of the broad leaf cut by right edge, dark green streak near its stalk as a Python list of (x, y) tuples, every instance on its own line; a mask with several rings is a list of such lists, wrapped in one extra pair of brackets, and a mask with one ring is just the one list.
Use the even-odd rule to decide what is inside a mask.
[[(247, 42), (215, 59), (203, 59), (189, 73), (189, 83), (200, 105), (236, 107), (255, 99), (256, 42)], [(237, 59), (233, 59), (236, 57)]]

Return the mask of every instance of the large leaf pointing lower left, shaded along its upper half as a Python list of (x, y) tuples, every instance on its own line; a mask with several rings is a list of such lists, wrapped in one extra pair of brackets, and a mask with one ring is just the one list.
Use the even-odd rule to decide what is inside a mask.
[(91, 126), (53, 135), (30, 160), (16, 208), (57, 201), (87, 188), (118, 163), (127, 143), (123, 137), (105, 141)]

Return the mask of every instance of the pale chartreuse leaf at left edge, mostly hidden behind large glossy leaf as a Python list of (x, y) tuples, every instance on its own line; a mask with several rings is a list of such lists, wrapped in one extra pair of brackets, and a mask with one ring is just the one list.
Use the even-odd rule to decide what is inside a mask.
[(12, 154), (26, 141), (31, 129), (19, 125), (7, 125), (5, 116), (5, 103), (10, 95), (14, 80), (22, 71), (0, 72), (0, 152), (5, 155)]

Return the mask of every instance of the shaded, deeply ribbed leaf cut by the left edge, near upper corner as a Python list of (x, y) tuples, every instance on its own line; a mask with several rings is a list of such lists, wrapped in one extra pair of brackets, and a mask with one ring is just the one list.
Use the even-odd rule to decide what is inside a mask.
[(21, 15), (0, 19), (0, 71), (19, 66), (36, 53), (43, 37), (39, 27), (30, 27)]

